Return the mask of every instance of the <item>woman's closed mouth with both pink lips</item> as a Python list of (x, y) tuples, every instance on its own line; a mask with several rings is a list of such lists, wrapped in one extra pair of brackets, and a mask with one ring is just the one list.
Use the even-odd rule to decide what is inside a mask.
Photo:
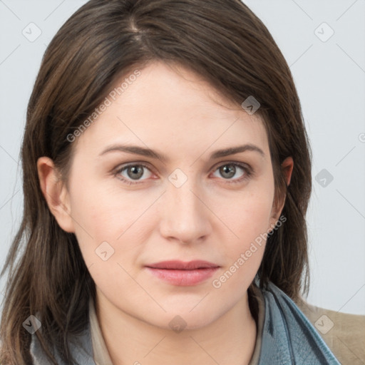
[(175, 260), (148, 264), (145, 268), (154, 277), (164, 282), (187, 287), (205, 282), (205, 280), (212, 277), (220, 266), (202, 260), (190, 262)]

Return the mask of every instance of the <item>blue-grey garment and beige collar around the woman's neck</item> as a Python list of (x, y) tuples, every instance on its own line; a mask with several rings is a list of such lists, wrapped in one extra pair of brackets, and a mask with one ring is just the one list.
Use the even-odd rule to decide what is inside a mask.
[[(282, 290), (270, 283), (264, 290), (256, 287), (255, 296), (259, 316), (250, 365), (341, 365), (309, 319)], [(92, 300), (89, 317), (89, 325), (83, 334), (70, 339), (71, 353), (82, 365), (113, 365)], [(35, 334), (32, 335), (31, 356), (34, 365), (50, 364)], [(70, 365), (62, 362), (59, 356), (57, 359), (60, 365)]]

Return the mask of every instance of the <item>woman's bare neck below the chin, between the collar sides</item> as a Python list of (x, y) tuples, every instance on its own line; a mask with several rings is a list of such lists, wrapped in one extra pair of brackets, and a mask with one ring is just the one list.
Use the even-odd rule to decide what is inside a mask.
[(247, 292), (214, 322), (180, 332), (137, 319), (100, 292), (96, 314), (113, 365), (245, 365), (255, 349), (257, 328)]

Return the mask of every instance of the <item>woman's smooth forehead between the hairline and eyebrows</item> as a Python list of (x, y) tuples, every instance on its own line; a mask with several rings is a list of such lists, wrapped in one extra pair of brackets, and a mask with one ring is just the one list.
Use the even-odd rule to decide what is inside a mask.
[[(103, 108), (81, 135), (78, 149), (128, 142), (157, 150), (207, 150), (255, 143), (267, 153), (264, 124), (220, 95), (201, 76), (165, 63), (150, 63), (115, 82)], [(133, 71), (130, 71), (130, 75)], [(123, 88), (122, 88), (123, 84)], [(116, 94), (116, 96), (115, 96)], [(180, 150), (179, 150), (180, 148)]]

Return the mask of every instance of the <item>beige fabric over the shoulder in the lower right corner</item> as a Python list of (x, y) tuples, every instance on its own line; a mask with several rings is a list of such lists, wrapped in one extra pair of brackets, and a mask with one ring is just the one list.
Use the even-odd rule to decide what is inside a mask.
[(343, 364), (364, 364), (365, 316), (315, 307), (301, 299), (298, 307)]

